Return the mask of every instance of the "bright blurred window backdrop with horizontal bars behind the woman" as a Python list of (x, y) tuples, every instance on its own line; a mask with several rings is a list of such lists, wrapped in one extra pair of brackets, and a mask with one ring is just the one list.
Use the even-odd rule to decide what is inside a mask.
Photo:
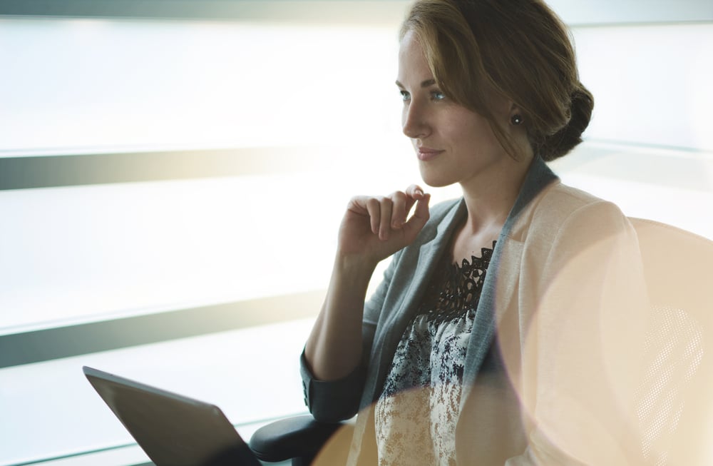
[[(555, 171), (713, 238), (713, 4), (549, 4), (595, 96)], [(304, 411), (347, 201), (420, 182), (394, 85), (408, 5), (0, 1), (0, 466), (145, 461), (85, 364), (246, 437)]]

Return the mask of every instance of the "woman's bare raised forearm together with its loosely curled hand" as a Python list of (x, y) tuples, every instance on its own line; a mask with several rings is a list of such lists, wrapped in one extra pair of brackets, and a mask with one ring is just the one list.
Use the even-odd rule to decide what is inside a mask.
[[(414, 242), (429, 220), (429, 199), (419, 186), (390, 196), (355, 196), (339, 228), (337, 258), (327, 298), (304, 348), (318, 380), (339, 380), (361, 363), (364, 298), (380, 260)], [(411, 218), (411, 208), (416, 206)]]

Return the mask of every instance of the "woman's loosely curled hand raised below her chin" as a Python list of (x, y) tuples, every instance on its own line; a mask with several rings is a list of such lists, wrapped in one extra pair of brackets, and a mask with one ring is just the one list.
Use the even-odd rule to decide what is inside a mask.
[[(430, 199), (416, 185), (389, 196), (355, 196), (339, 228), (338, 255), (376, 265), (413, 243), (429, 220)], [(414, 215), (408, 218), (414, 204)]]

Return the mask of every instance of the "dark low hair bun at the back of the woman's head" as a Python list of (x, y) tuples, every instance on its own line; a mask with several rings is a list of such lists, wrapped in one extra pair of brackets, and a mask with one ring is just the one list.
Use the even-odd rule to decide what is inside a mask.
[(540, 146), (540, 156), (545, 161), (566, 155), (582, 142), (582, 133), (589, 126), (594, 108), (594, 97), (582, 83), (572, 93), (570, 121), (552, 136), (548, 136)]

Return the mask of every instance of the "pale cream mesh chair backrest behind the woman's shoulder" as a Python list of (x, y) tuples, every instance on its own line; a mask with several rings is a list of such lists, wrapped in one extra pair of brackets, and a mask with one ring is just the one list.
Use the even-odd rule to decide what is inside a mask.
[(713, 465), (713, 241), (630, 218), (639, 238), (652, 363), (637, 405), (655, 466)]

